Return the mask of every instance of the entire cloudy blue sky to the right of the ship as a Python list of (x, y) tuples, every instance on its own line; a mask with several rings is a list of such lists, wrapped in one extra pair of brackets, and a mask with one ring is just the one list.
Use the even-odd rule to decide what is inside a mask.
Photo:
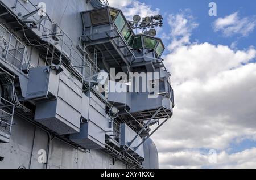
[(109, 1), (127, 18), (164, 15), (157, 36), (176, 106), (152, 136), (160, 168), (255, 168), (256, 1)]

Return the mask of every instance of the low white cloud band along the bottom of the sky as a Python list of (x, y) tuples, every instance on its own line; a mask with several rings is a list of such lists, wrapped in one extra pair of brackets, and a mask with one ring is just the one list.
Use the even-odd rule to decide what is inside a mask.
[[(225, 151), (217, 154), (216, 164), (210, 164), (208, 153), (200, 151), (181, 151), (160, 153), (160, 168), (255, 168), (256, 148), (229, 155)], [(169, 160), (172, 164), (169, 163)]]

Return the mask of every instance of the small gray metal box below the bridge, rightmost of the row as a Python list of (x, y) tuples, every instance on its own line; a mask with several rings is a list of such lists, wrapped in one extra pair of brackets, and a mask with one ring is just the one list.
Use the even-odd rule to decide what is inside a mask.
[[(129, 147), (129, 143), (135, 138), (136, 132), (134, 132), (128, 125), (121, 124), (120, 125), (120, 145), (124, 145)], [(131, 144), (130, 149), (137, 153), (137, 155), (144, 158), (144, 148), (141, 145), (136, 151), (135, 148), (142, 142), (142, 138), (138, 136), (133, 144)]]

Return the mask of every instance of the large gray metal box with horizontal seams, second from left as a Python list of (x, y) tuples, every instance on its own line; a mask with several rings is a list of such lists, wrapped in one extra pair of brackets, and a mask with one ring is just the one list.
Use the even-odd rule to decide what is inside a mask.
[(77, 133), (80, 128), (82, 84), (70, 77), (67, 71), (61, 72), (55, 82), (56, 100), (36, 104), (35, 121), (60, 135)]

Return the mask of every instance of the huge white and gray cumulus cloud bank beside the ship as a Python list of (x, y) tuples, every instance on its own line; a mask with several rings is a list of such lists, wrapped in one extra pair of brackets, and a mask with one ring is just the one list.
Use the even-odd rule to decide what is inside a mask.
[[(256, 49), (192, 42), (197, 25), (188, 23), (185, 16), (172, 16), (181, 20), (170, 24), (171, 35), (188, 41), (172, 46), (170, 39), (173, 49), (164, 57), (172, 74), (176, 107), (174, 116), (154, 135), (160, 167), (204, 168), (209, 165), (208, 155), (200, 149), (216, 149), (220, 161), (210, 168), (254, 168), (254, 158), (242, 156), (247, 151), (233, 155), (226, 151), (237, 139), (256, 138), (256, 64), (252, 63)], [(179, 27), (182, 31), (176, 30)]]

